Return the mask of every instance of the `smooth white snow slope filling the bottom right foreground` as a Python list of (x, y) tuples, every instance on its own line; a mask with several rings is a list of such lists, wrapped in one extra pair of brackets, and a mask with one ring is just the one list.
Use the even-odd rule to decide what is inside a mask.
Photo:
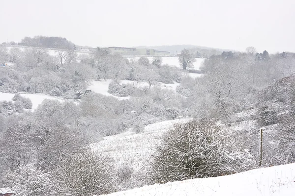
[(108, 196), (295, 196), (295, 164), (144, 186)]

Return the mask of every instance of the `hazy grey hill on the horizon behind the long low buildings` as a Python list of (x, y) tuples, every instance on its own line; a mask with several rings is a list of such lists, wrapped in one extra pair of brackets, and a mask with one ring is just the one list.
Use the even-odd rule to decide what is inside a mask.
[(223, 51), (234, 51), (231, 49), (215, 49), (215, 48), (195, 46), (195, 45), (137, 46), (137, 47), (133, 47), (133, 48), (138, 48), (138, 49), (151, 48), (151, 49), (170, 51), (171, 55), (176, 55), (182, 49), (189, 49), (191, 52), (196, 53), (196, 56), (204, 56), (204, 57), (209, 57), (213, 54), (221, 54)]

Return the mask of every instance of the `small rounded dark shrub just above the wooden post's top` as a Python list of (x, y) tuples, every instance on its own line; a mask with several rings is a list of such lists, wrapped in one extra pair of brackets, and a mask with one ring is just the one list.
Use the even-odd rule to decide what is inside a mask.
[(257, 122), (261, 126), (267, 126), (278, 123), (278, 117), (276, 112), (271, 107), (263, 105), (259, 109)]

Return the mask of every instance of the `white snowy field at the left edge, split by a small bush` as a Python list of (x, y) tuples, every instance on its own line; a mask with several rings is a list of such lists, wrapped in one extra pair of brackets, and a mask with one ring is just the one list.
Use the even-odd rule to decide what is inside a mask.
[[(0, 101), (11, 101), (13, 96), (15, 94), (13, 93), (1, 93), (0, 92)], [(57, 99), (59, 101), (64, 101), (64, 99), (62, 98), (58, 98), (58, 97), (52, 97), (52, 96), (48, 96), (48, 95), (44, 95), (44, 94), (21, 94), (22, 97), (24, 98), (30, 98), (30, 100), (32, 101), (32, 110), (35, 110), (38, 105), (44, 100), (44, 99)]]

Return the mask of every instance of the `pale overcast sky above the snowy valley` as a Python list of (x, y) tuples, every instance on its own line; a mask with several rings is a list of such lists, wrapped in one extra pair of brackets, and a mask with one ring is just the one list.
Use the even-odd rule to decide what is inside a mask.
[(295, 0), (0, 0), (0, 42), (295, 51)]

